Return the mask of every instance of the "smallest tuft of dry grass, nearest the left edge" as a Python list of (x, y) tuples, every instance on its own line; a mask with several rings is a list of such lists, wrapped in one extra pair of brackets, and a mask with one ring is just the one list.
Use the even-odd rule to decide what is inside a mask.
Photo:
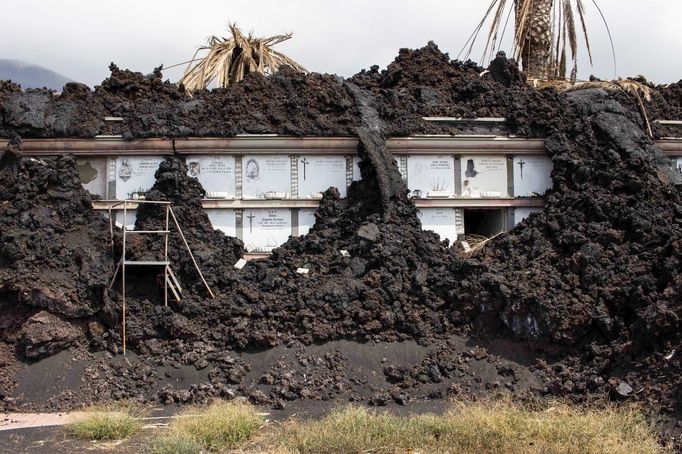
[(134, 406), (92, 407), (66, 426), (67, 432), (82, 440), (122, 440), (142, 428), (142, 411)]

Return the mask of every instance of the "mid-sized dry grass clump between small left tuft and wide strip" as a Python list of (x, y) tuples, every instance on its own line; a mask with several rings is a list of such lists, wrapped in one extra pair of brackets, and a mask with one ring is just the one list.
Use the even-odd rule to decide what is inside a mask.
[(220, 452), (238, 448), (251, 440), (265, 420), (256, 408), (237, 402), (216, 402), (192, 407), (175, 419), (169, 432), (144, 447), (146, 454)]

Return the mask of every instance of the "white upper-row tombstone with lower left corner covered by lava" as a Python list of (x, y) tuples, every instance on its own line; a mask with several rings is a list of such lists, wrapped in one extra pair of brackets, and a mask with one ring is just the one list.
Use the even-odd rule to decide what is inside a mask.
[(234, 197), (234, 156), (189, 156), (187, 174), (199, 180), (209, 198)]

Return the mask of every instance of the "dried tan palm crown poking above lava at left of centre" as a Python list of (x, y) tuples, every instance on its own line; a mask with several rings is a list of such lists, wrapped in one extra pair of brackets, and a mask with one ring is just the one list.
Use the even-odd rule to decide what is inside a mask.
[[(180, 80), (189, 92), (203, 90), (216, 79), (218, 87), (227, 87), (241, 81), (250, 72), (272, 74), (283, 65), (306, 72), (303, 66), (272, 49), (276, 44), (291, 39), (291, 33), (256, 38), (253, 32), (244, 35), (236, 24), (229, 24), (229, 30), (230, 38), (212, 36), (208, 45), (194, 53)], [(197, 59), (202, 51), (208, 51), (208, 54)], [(194, 62), (197, 63), (192, 66)]]

